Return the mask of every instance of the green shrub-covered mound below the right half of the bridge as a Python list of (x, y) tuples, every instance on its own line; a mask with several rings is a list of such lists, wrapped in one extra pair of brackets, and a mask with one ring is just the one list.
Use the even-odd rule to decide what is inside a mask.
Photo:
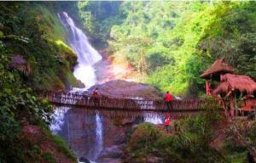
[[(218, 114), (203, 113), (178, 120), (180, 132), (166, 134), (151, 124), (144, 123), (131, 134), (128, 158), (145, 162), (148, 157), (157, 157), (162, 162), (226, 162), (226, 159), (208, 143), (213, 135), (213, 124)], [(128, 160), (129, 160), (128, 159)]]

